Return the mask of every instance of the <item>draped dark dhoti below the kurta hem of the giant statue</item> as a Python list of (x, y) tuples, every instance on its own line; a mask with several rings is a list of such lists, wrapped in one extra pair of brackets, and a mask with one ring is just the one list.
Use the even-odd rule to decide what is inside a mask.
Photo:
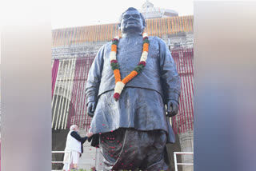
[(163, 157), (166, 132), (120, 128), (99, 136), (104, 170), (166, 170)]

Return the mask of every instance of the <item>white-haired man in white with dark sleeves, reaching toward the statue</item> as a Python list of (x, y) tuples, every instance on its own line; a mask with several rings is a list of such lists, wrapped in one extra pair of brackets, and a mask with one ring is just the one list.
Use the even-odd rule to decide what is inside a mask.
[[(93, 133), (87, 133), (86, 137), (81, 137), (78, 134), (79, 128), (78, 125), (71, 125), (70, 132), (66, 137), (66, 148), (64, 155), (64, 167), (63, 170), (68, 170), (68, 161), (70, 159), (70, 168), (78, 169), (78, 160), (79, 157), (82, 156), (83, 153), (83, 143), (87, 140), (88, 137), (91, 137)], [(70, 153), (68, 153), (70, 152)]]

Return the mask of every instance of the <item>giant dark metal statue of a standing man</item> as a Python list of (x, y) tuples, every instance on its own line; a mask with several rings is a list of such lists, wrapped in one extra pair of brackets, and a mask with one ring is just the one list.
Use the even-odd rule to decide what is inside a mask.
[[(87, 79), (87, 113), (93, 117), (90, 132), (99, 136), (104, 170), (166, 170), (165, 145), (174, 142), (166, 117), (178, 113), (181, 81), (170, 51), (160, 38), (146, 38), (149, 46), (142, 62), (146, 22), (138, 10), (126, 10), (118, 26), (122, 38), (114, 43), (115, 60), (113, 42), (108, 42), (98, 51)], [(125, 85), (119, 81), (123, 89), (118, 97), (114, 97), (120, 89), (115, 86), (118, 78), (113, 62), (118, 63), (115, 69), (121, 81), (131, 72), (136, 75)], [(138, 63), (143, 64), (141, 72), (134, 71)]]

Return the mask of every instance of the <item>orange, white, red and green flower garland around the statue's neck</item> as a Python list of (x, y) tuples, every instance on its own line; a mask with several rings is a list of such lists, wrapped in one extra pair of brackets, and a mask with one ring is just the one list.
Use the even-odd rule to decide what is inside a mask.
[(148, 34), (143, 34), (143, 50), (142, 57), (138, 65), (134, 68), (133, 71), (130, 72), (126, 78), (121, 80), (120, 68), (117, 61), (117, 49), (118, 49), (119, 37), (116, 36), (112, 40), (111, 52), (110, 52), (110, 65), (112, 70), (114, 71), (114, 79), (115, 79), (115, 87), (114, 87), (114, 100), (118, 101), (120, 94), (122, 93), (122, 89), (125, 87), (127, 82), (130, 82), (136, 75), (140, 74), (144, 67), (146, 66), (147, 54), (149, 51), (150, 41), (148, 38)]

